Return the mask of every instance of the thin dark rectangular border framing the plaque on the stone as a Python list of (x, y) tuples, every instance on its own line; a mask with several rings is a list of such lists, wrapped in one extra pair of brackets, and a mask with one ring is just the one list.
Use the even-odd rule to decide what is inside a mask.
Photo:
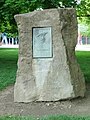
[[(48, 28), (48, 27), (51, 27), (51, 40), (52, 40), (52, 55), (51, 55), (51, 57), (34, 57), (33, 56), (33, 29), (34, 28)], [(43, 26), (43, 27), (32, 27), (32, 58), (33, 59), (47, 59), (47, 58), (53, 58), (53, 30), (52, 30), (52, 26)]]

